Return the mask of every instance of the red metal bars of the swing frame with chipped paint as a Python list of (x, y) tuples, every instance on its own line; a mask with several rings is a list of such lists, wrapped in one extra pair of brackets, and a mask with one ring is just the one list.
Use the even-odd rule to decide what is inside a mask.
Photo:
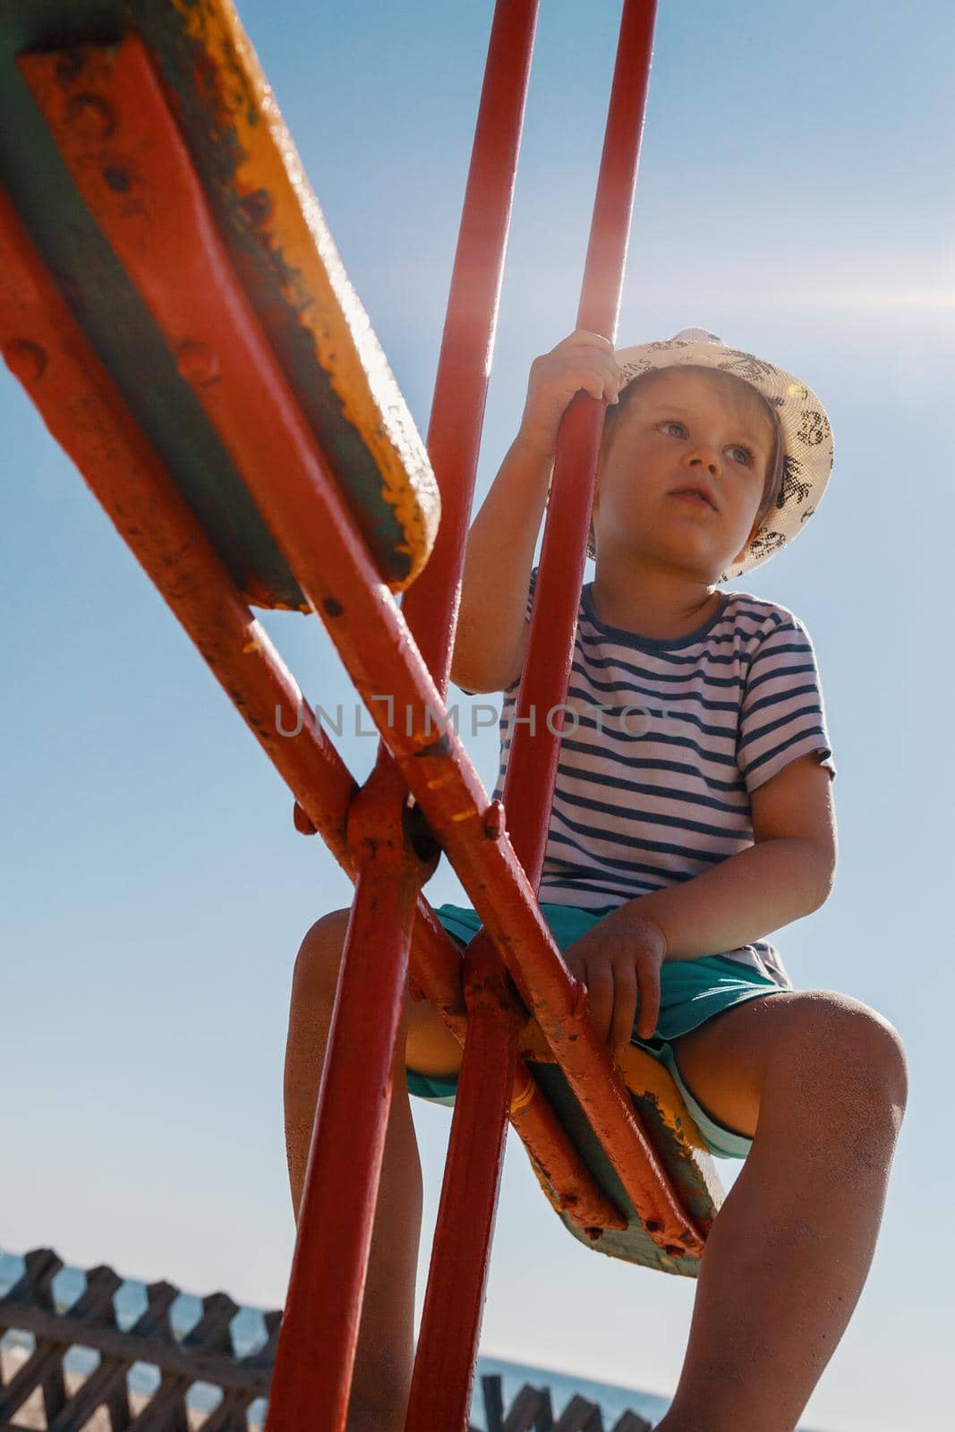
[[(407, 1432), (460, 1432), (474, 1376), (508, 1118), (584, 1237), (623, 1219), (543, 1098), (528, 1061), (557, 1063), (660, 1266), (699, 1259), (710, 1219), (689, 1209), (587, 1017), (535, 898), (567, 695), (603, 404), (564, 418), (503, 802), (488, 802), (448, 729), (447, 687), (537, 0), (497, 0), (427, 448), (442, 520), (402, 604), (382, 580), (322, 445), (296, 404), (209, 219), (146, 46), (123, 39), (93, 79), (140, 135), (157, 206), (143, 221), (90, 185), (90, 146), (50, 99), (56, 54), (21, 62), (73, 180), (152, 319), (180, 354), (219, 434), (324, 621), (381, 737), (358, 786), (246, 596), (169, 478), (109, 369), (0, 193), (4, 357), (160, 589), (289, 790), (355, 882), (269, 1400), (269, 1432), (341, 1432), (354, 1368), (401, 1001), (428, 998), (462, 1044)], [(649, 86), (654, 0), (624, 0), (577, 326), (614, 338)], [(96, 77), (99, 74), (99, 79)], [(92, 83), (92, 82), (90, 82)], [(99, 100), (97, 100), (99, 103)], [(106, 105), (106, 99), (102, 99)], [(189, 285), (168, 272), (188, 266)], [(183, 362), (183, 325), (202, 331)], [(69, 362), (47, 365), (49, 354)], [(210, 375), (209, 354), (215, 354)], [(220, 381), (222, 379), (222, 381)], [(82, 420), (80, 420), (82, 415)], [(283, 463), (268, 454), (281, 442)], [(547, 620), (543, 620), (543, 613)], [(381, 709), (381, 692), (391, 696)], [(405, 722), (389, 719), (397, 709)], [(291, 719), (289, 719), (291, 717)], [(435, 717), (440, 727), (435, 735)], [(292, 736), (281, 732), (295, 727)], [(528, 729), (531, 727), (531, 729)], [(507, 818), (507, 826), (505, 826)], [(422, 896), (440, 852), (481, 932), (461, 964)], [(369, 957), (369, 952), (374, 952)], [(533, 1018), (528, 1018), (528, 1012)], [(354, 1110), (367, 1111), (357, 1120)], [(713, 1186), (713, 1200), (719, 1190)], [(316, 1349), (321, 1353), (316, 1356)]]

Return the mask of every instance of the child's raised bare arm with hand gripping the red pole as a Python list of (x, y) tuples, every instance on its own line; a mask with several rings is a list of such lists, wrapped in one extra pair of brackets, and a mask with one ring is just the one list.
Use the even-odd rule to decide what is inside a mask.
[(620, 372), (598, 334), (578, 331), (534, 359), (520, 431), (471, 524), (451, 679), (500, 692), (524, 664), (527, 587), (547, 503), (557, 432), (581, 388), (614, 402)]

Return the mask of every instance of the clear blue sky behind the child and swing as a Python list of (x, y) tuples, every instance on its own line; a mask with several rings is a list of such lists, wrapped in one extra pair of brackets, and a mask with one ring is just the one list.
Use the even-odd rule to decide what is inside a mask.
[[(286, 3), (281, 21), (265, 0), (241, 9), (424, 428), (491, 4)], [(573, 326), (613, 64), (617, 3), (541, 10), (478, 500), (531, 358)], [(805, 1418), (829, 1432), (928, 1421), (949, 1356), (932, 1229), (955, 1176), (952, 30), (929, 0), (903, 16), (661, 0), (620, 326), (621, 345), (709, 328), (803, 377), (835, 428), (819, 514), (743, 583), (808, 623), (839, 766), (836, 889), (775, 942), (799, 985), (886, 1014), (911, 1060), (873, 1270)], [(4, 375), (0, 424), (0, 1237), (275, 1306), (292, 1246), (291, 965), (351, 886), (295, 835), (276, 775)], [(306, 695), (351, 710), (318, 623), (266, 624)], [(339, 745), (367, 775), (375, 742)], [(491, 789), (495, 737), (468, 745)], [(461, 898), (447, 863), (428, 895)], [(427, 1246), (450, 1116), (415, 1117)], [(511, 1140), (488, 1352), (666, 1393), (692, 1293), (568, 1239)]]

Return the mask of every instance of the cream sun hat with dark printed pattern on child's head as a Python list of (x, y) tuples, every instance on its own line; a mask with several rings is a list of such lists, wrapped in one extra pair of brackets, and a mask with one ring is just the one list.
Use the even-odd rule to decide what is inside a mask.
[[(699, 329), (697, 329), (699, 332)], [(773, 557), (803, 530), (819, 507), (832, 471), (832, 427), (822, 402), (790, 372), (717, 339), (672, 338), (667, 342), (637, 344), (614, 354), (624, 382), (653, 368), (693, 364), (743, 378), (772, 404), (783, 434), (783, 478), (777, 505), (753, 534), (743, 558), (729, 567), (720, 581), (740, 577)]]

